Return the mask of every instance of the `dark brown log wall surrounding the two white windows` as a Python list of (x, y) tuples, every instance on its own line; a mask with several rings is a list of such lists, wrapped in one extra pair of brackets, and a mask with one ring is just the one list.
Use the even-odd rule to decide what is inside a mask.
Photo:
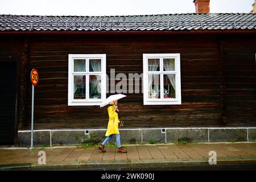
[[(67, 106), (69, 53), (105, 53), (109, 76), (112, 68), (115, 74), (142, 73), (143, 53), (180, 53), (182, 105), (144, 106), (142, 93), (127, 94), (119, 101), (126, 127), (256, 126), (255, 40), (255, 35), (28, 36), (27, 75), (36, 68), (40, 77), (35, 129), (107, 126), (106, 109)], [(26, 100), (28, 125), (21, 118), (20, 129), (30, 128), (30, 82)]]

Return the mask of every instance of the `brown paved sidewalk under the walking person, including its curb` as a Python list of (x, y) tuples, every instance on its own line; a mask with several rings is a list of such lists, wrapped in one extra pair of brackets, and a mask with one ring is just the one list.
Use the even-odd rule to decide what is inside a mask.
[[(46, 152), (46, 165), (38, 164), (38, 152)], [(217, 163), (256, 162), (256, 143), (189, 143), (127, 146), (127, 154), (117, 147), (0, 148), (0, 169), (101, 168), (179, 163), (208, 163), (209, 151), (216, 151)]]

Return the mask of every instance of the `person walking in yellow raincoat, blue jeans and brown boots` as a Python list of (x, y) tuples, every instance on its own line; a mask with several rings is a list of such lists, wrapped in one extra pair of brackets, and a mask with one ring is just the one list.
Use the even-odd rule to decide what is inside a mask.
[(123, 150), (123, 147), (121, 146), (121, 140), (120, 140), (120, 134), (118, 130), (118, 126), (122, 126), (121, 122), (118, 119), (118, 107), (117, 107), (117, 100), (114, 100), (112, 102), (109, 102), (108, 105), (108, 114), (109, 114), (109, 123), (108, 123), (108, 130), (106, 131), (106, 138), (104, 142), (101, 143), (99, 150), (102, 152), (106, 152), (105, 150), (105, 144), (108, 143), (110, 139), (115, 136), (117, 139), (117, 146), (118, 146), (118, 152), (121, 153), (127, 153), (126, 150)]

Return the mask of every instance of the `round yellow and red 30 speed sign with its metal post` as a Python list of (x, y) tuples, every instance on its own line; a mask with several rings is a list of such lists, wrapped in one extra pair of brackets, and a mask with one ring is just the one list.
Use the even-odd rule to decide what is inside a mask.
[(35, 85), (38, 85), (39, 74), (36, 69), (32, 69), (31, 71), (31, 82), (32, 82), (32, 103), (31, 103), (31, 146), (30, 150), (33, 149), (33, 138), (34, 138), (34, 89)]

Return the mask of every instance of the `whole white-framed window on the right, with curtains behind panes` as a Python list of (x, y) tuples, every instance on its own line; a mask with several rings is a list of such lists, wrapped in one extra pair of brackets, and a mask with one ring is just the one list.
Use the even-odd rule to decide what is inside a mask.
[(143, 54), (144, 105), (181, 105), (180, 54)]

